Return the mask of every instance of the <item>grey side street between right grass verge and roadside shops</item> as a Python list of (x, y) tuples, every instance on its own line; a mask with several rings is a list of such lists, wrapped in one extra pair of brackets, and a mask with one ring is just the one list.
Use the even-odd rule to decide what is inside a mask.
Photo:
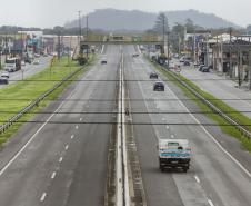
[[(203, 73), (192, 67), (182, 67), (181, 75), (193, 81), (202, 90), (222, 99), (239, 111), (251, 111), (251, 91), (247, 86), (238, 88), (238, 82), (219, 76), (217, 72)], [(245, 84), (247, 85), (247, 84)], [(243, 112), (251, 118), (251, 112)]]

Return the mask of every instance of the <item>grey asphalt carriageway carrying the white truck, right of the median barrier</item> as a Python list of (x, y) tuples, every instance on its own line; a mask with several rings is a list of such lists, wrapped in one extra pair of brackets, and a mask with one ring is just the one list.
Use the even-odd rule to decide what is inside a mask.
[[(128, 81), (132, 111), (145, 112), (133, 115), (133, 122), (167, 124), (167, 126), (133, 126), (148, 205), (250, 206), (251, 177), (240, 168), (224, 148), (219, 146), (205, 128), (168, 125), (170, 122), (197, 122), (197, 117), (192, 115), (161, 114), (187, 111), (185, 106), (177, 97), (181, 91), (175, 90), (175, 95), (172, 87), (165, 84), (164, 92), (154, 92), (153, 82), (141, 81), (149, 80), (149, 73), (153, 70), (152, 66), (142, 57), (132, 58), (131, 55), (135, 52), (133, 47), (127, 47), (124, 52), (126, 79), (135, 80)], [(149, 111), (160, 114), (150, 115)], [(222, 134), (219, 130), (213, 135), (221, 136)], [(188, 174), (159, 170), (158, 138), (188, 138), (190, 140), (193, 156)], [(232, 144), (232, 149), (234, 149), (238, 143)], [(250, 155), (247, 157), (251, 158)]]

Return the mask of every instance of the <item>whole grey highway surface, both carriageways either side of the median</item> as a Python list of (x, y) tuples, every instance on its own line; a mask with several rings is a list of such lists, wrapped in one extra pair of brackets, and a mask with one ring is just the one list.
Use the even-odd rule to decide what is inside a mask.
[[(168, 114), (193, 111), (198, 107), (179, 100), (184, 95), (171, 82), (165, 82), (164, 92), (153, 91), (149, 73), (154, 68), (142, 55), (132, 57), (138, 52), (137, 47), (123, 46), (122, 50), (126, 89), (134, 122), (132, 135), (147, 205), (250, 206), (251, 155), (219, 128), (182, 125), (211, 122), (202, 115)], [(100, 63), (103, 57), (108, 65)], [(1, 206), (104, 205), (112, 125), (83, 122), (116, 121), (117, 115), (111, 112), (117, 108), (120, 46), (106, 46), (98, 58), (98, 62), (80, 77), (83, 81), (74, 82), (62, 94), (68, 100), (53, 101), (44, 109), (76, 114), (37, 115), (34, 120), (46, 122), (23, 125), (0, 151)], [(172, 122), (180, 125), (170, 125)], [(190, 140), (192, 163), (187, 174), (160, 171), (158, 138)]]

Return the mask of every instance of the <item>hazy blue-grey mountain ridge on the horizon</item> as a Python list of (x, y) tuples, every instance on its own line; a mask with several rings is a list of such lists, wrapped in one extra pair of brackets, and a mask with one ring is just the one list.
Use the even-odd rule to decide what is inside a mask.
[[(184, 23), (189, 18), (194, 24), (204, 27), (205, 29), (219, 28), (237, 28), (241, 27), (217, 17), (213, 13), (204, 13), (198, 10), (177, 10), (164, 11), (169, 19), (170, 27), (175, 23)], [(102, 29), (106, 31), (116, 30), (148, 30), (153, 28), (158, 13), (145, 12), (140, 10), (119, 10), (119, 9), (97, 9), (89, 13), (89, 26), (91, 29)], [(82, 17), (82, 27), (86, 27), (86, 18)], [(72, 20), (64, 24), (66, 28), (73, 28), (79, 26), (79, 20)]]

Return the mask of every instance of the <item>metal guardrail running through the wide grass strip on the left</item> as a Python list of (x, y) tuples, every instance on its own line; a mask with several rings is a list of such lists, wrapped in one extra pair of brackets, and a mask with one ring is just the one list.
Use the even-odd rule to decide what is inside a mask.
[(11, 125), (13, 125), (16, 121), (18, 121), (24, 114), (33, 109), (41, 102), (46, 97), (48, 97), (50, 94), (52, 94), (56, 89), (61, 87), (66, 81), (68, 81), (70, 78), (72, 78), (76, 73), (78, 73), (82, 68), (78, 69), (77, 71), (72, 72), (71, 75), (63, 78), (60, 82), (54, 85), (53, 88), (49, 89), (44, 94), (42, 94), (40, 97), (38, 97), (36, 100), (33, 100), (31, 104), (29, 104), (27, 107), (24, 107), (22, 110), (20, 110), (17, 115), (11, 117), (9, 120), (7, 120), (4, 124), (0, 126), (0, 135), (3, 134)]

